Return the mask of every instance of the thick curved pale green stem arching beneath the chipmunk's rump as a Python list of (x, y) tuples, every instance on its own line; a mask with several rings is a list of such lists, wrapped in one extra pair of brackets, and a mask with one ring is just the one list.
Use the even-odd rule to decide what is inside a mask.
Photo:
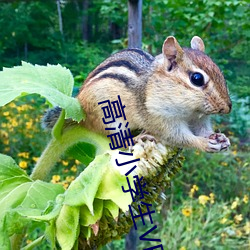
[(63, 131), (61, 137), (51, 139), (30, 177), (33, 180), (46, 180), (61, 155), (78, 142), (93, 144), (96, 147), (96, 155), (109, 150), (109, 140), (105, 136), (80, 125), (69, 127)]

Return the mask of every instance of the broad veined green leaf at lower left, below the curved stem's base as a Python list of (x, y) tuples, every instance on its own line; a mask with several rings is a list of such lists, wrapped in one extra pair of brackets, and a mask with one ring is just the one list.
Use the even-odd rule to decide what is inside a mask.
[[(36, 216), (41, 216), (47, 204), (63, 191), (60, 185), (42, 181), (19, 185), (0, 201), (3, 204), (0, 212), (1, 231), (7, 231), (10, 236), (20, 232), (29, 223), (29, 219), (39, 220)], [(60, 209), (60, 205), (56, 206), (47, 216), (47, 220), (55, 219)], [(43, 221), (45, 218), (40, 220)]]

